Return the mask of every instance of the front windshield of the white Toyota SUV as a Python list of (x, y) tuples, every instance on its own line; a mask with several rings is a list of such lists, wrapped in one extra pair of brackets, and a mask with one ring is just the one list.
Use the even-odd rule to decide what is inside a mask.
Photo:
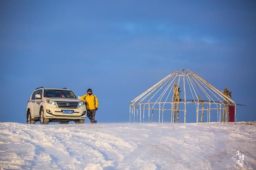
[(75, 99), (75, 94), (70, 90), (44, 90), (44, 97), (47, 98), (72, 98)]

